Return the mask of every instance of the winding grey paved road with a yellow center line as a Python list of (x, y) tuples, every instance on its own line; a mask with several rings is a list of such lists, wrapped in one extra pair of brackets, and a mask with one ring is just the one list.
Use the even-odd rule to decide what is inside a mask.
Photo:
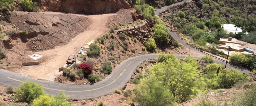
[[(181, 3), (178, 3), (181, 4)], [(174, 4), (174, 5), (178, 5)], [(174, 6), (171, 5), (171, 6)], [(157, 14), (170, 6), (163, 7), (160, 10), (157, 10)], [(185, 47), (189, 47), (180, 40), (179, 37), (173, 32), (168, 32), (170, 35), (172, 35), (175, 39), (178, 39), (180, 43), (182, 43)], [(197, 52), (195, 49), (192, 49), (192, 51)], [(201, 52), (197, 52), (201, 53)], [(201, 53), (202, 54), (202, 53)], [(202, 54), (203, 55), (203, 54)], [(69, 85), (69, 84), (62, 84), (62, 83), (54, 83), (54, 82), (45, 82), (40, 81), (36, 79), (32, 79), (29, 76), (24, 76), (21, 74), (13, 73), (4, 69), (0, 69), (0, 83), (8, 86), (12, 86), (17, 88), (18, 85), (20, 85), (24, 81), (34, 81), (37, 84), (41, 84), (44, 86), (44, 90), (47, 92), (47, 94), (50, 95), (59, 95), (60, 92), (65, 92), (67, 96), (70, 97), (70, 99), (91, 99), (94, 97), (99, 97), (103, 95), (110, 94), (111, 92), (114, 92), (115, 89), (122, 88), (127, 81), (130, 79), (131, 74), (134, 72), (136, 67), (140, 65), (143, 60), (147, 59), (153, 59), (157, 57), (157, 54), (147, 54), (147, 55), (140, 55), (136, 57), (129, 58), (127, 60), (124, 60), (120, 65), (117, 65), (117, 67), (112, 71), (112, 74), (107, 76), (105, 79), (103, 79), (100, 82), (95, 83), (94, 85)], [(184, 58), (186, 55), (176, 55), (178, 58)], [(199, 59), (199, 56), (193, 56), (197, 59)], [(216, 63), (219, 64), (225, 64), (222, 63), (220, 60), (215, 60)], [(227, 64), (227, 68), (234, 68), (230, 66), (230, 64)], [(239, 70), (242, 73), (250, 73), (246, 70)]]

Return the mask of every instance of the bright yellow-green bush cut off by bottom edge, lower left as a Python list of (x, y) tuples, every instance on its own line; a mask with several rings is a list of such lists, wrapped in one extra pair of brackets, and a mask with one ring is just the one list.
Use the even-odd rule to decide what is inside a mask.
[(40, 95), (33, 100), (31, 106), (75, 106), (68, 101), (64, 92), (61, 92), (59, 96)]

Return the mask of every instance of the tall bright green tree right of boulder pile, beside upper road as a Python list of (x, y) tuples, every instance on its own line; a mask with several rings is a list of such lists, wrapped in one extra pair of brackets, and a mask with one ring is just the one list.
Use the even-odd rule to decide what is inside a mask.
[(163, 24), (156, 24), (153, 29), (155, 30), (153, 38), (157, 43), (165, 44), (170, 41), (167, 36), (167, 28)]

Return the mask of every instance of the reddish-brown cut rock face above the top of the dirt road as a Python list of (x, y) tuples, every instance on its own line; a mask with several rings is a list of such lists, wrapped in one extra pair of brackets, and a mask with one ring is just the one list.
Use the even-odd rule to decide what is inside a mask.
[(125, 0), (35, 0), (42, 11), (68, 12), (75, 14), (106, 14), (119, 9), (129, 9)]

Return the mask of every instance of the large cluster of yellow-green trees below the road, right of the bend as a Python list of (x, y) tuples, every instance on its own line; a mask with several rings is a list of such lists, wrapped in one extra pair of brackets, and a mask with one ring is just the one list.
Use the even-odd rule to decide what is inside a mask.
[(173, 54), (160, 53), (156, 60), (158, 62), (147, 69), (149, 77), (142, 79), (134, 90), (133, 100), (143, 106), (175, 105), (195, 97), (199, 92), (227, 89), (239, 81), (249, 80), (248, 76), (238, 70), (224, 69), (222, 65), (211, 61), (205, 68), (199, 69), (196, 59), (191, 56), (180, 62)]

